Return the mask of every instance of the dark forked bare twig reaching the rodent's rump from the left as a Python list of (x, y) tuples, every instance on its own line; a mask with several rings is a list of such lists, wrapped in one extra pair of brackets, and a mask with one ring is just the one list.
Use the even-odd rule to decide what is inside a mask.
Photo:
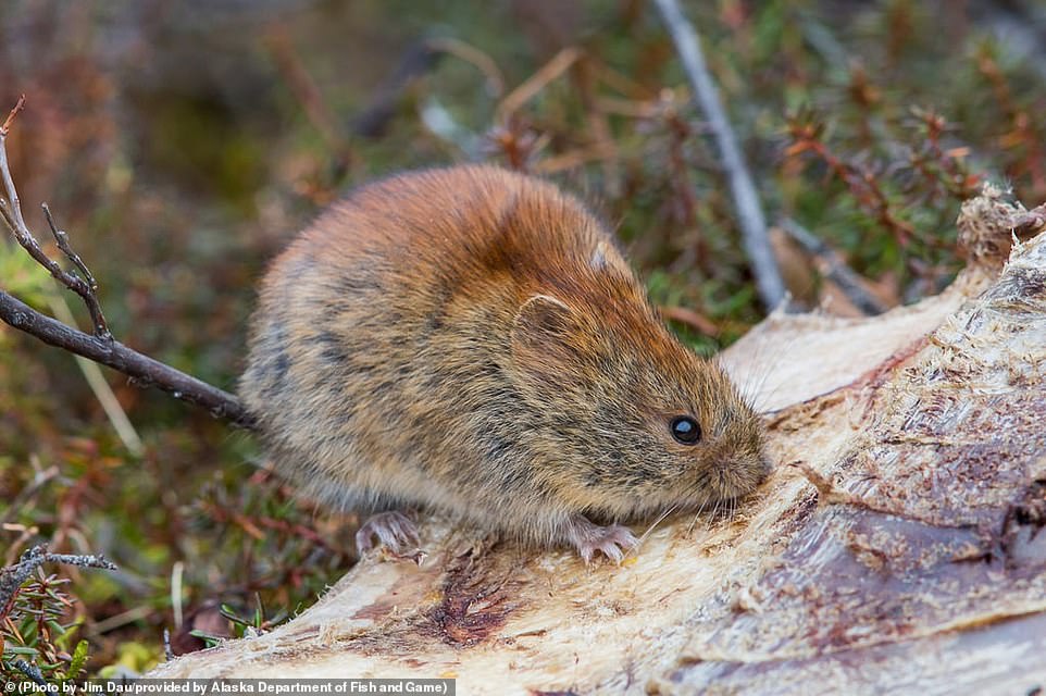
[(64, 271), (43, 253), (22, 216), (18, 192), (8, 165), (5, 138), (14, 117), (22, 110), (24, 103), (25, 97), (23, 96), (17, 105), (11, 110), (3, 125), (0, 126), (0, 178), (3, 179), (3, 186), (8, 195), (7, 200), (0, 199), (0, 219), (14, 233), (18, 244), (37, 263), (47, 269), (62, 285), (74, 290), (84, 299), (91, 314), (95, 334), (85, 334), (55, 319), (41, 314), (3, 290), (0, 290), (0, 320), (18, 331), (39, 338), (46, 344), (64, 348), (77, 356), (109, 365), (113, 370), (126, 374), (140, 386), (159, 387), (176, 399), (202, 406), (215, 417), (226, 418), (244, 427), (251, 427), (251, 418), (232, 394), (144, 356), (112, 337), (105, 325), (101, 306), (98, 303), (97, 283), (84, 261), (70, 247), (66, 234), (54, 224), (47, 206), (43, 207), (43, 213), (59, 249), (79, 269), (84, 277)]

